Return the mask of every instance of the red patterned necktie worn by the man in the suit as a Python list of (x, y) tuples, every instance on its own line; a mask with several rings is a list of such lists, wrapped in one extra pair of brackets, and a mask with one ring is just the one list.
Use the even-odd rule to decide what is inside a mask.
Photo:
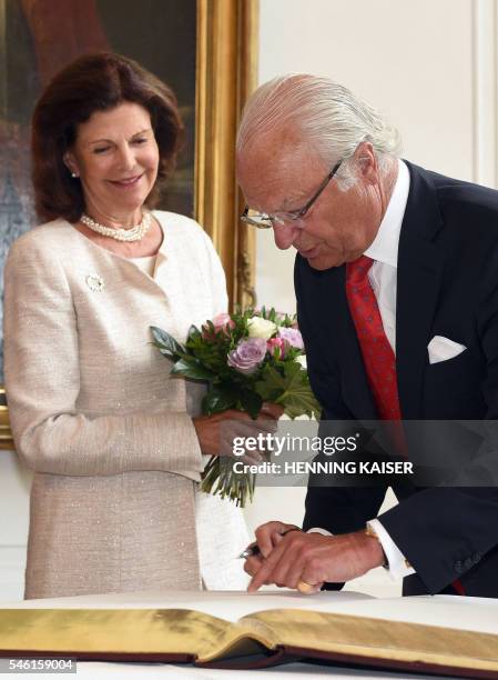
[[(382, 420), (400, 420), (396, 357), (384, 332), (377, 299), (368, 280), (368, 271), (374, 260), (362, 256), (346, 264), (346, 296), (349, 311), (356, 328), (368, 384)], [(395, 439), (399, 432), (394, 430)], [(398, 441), (400, 449), (406, 444)], [(457, 579), (451, 583), (458, 594), (465, 589)]]

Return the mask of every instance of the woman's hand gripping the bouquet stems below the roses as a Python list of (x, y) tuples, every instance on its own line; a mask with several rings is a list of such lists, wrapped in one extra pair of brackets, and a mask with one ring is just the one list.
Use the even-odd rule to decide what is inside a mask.
[[(254, 438), (258, 434), (266, 438), (273, 434), (283, 412), (284, 409), (277, 403), (264, 403), (257, 420), (235, 409), (193, 418), (201, 451), (209, 456), (234, 456), (235, 438)], [(247, 450), (240, 459), (247, 463), (257, 463), (263, 460), (263, 456), (260, 451)]]

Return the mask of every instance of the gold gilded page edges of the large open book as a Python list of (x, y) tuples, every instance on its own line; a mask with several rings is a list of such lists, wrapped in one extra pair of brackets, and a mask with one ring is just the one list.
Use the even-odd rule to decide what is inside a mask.
[(256, 612), (235, 623), (187, 609), (3, 609), (0, 657), (14, 652), (234, 668), (291, 656), (498, 677), (497, 634), (303, 609)]

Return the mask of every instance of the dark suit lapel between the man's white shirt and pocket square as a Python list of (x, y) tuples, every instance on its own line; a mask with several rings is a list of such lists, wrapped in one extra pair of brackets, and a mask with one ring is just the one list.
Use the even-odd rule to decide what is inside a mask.
[(396, 370), (404, 419), (423, 418), (421, 396), (444, 253), (435, 237), (443, 220), (428, 173), (407, 163), (410, 189), (398, 249)]

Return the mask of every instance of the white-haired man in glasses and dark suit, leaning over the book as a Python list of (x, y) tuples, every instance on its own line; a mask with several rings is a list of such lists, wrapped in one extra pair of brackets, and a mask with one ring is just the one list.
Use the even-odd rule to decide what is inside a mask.
[[(238, 133), (244, 219), (297, 250), (323, 419), (497, 419), (498, 192), (403, 161), (398, 147), (346, 88), (275, 79)], [(305, 531), (257, 530), (250, 589), (338, 588), (384, 564), (404, 594), (498, 597), (498, 489), (457, 478), (394, 490), (398, 504), (377, 517), (385, 486), (309, 487)]]

